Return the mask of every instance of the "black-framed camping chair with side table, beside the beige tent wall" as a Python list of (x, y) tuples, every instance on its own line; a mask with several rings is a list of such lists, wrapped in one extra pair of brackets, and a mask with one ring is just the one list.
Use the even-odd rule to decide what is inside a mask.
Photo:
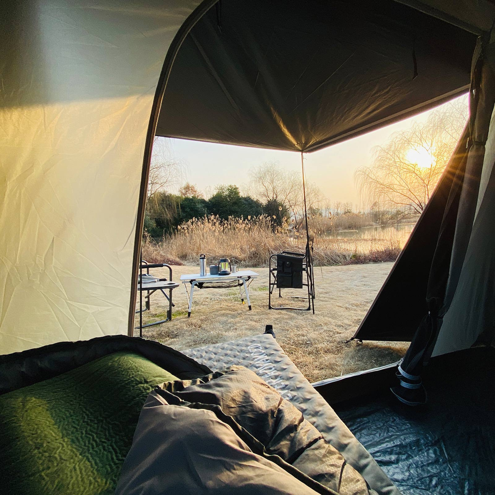
[[(150, 268), (162, 268), (167, 267), (169, 270), (169, 279), (167, 278), (156, 278), (149, 274)], [(143, 270), (146, 270), (146, 273), (143, 273)], [(172, 302), (172, 290), (179, 287), (179, 284), (172, 281), (172, 267), (167, 265), (166, 263), (148, 263), (148, 261), (141, 260), (140, 265), (140, 273), (138, 276), (138, 291), (139, 291), (139, 309), (136, 310), (136, 313), (139, 313), (139, 326), (135, 327), (137, 330), (139, 328), (139, 336), (142, 337), (143, 328), (151, 327), (153, 325), (160, 325), (161, 323), (165, 323), (172, 319), (172, 306), (175, 307), (175, 304)], [(150, 297), (156, 291), (160, 291), (165, 299), (168, 301), (168, 310), (167, 317), (164, 320), (153, 321), (151, 323), (147, 323), (143, 325), (143, 313), (145, 311), (149, 311), (150, 309)], [(165, 291), (168, 291), (168, 295)], [(143, 292), (146, 292), (145, 295), (145, 307), (143, 308)]]

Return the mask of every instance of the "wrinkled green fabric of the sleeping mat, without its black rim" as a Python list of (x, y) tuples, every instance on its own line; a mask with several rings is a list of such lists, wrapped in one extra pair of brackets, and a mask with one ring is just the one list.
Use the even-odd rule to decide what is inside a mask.
[(113, 494), (149, 392), (173, 380), (119, 351), (0, 396), (3, 494)]

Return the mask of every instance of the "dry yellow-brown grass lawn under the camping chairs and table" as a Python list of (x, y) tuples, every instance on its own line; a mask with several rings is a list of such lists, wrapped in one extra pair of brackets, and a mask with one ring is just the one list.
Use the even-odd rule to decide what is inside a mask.
[[(268, 269), (243, 266), (241, 269), (260, 274), (251, 284), (252, 311), (241, 304), (238, 289), (202, 289), (195, 290), (188, 319), (188, 301), (181, 284), (173, 292), (172, 321), (144, 329), (143, 337), (182, 350), (260, 334), (265, 325), (271, 324), (277, 341), (310, 382), (392, 363), (400, 359), (407, 344), (345, 344), (391, 267), (392, 263), (316, 267), (313, 315), (307, 311), (268, 310)], [(152, 274), (165, 277), (166, 271), (155, 269)], [(198, 271), (195, 266), (174, 266), (173, 279)], [(301, 293), (293, 291), (294, 295)], [(274, 303), (279, 301), (292, 304), (294, 299), (291, 302), (275, 297)], [(161, 294), (151, 296), (151, 311), (144, 313), (143, 323), (164, 318), (166, 302)]]

